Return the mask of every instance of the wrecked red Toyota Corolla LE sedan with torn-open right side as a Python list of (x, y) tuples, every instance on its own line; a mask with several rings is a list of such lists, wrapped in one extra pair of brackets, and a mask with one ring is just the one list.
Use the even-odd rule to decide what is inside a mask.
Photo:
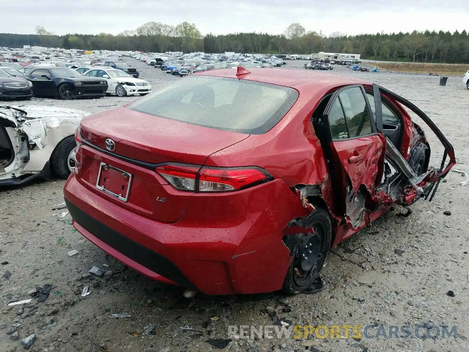
[[(438, 168), (404, 107), (444, 145)], [(329, 248), (394, 203), (431, 199), (455, 163), (406, 99), (299, 70), (189, 75), (83, 118), (76, 141), (64, 188), (75, 228), (207, 294), (317, 291)]]

